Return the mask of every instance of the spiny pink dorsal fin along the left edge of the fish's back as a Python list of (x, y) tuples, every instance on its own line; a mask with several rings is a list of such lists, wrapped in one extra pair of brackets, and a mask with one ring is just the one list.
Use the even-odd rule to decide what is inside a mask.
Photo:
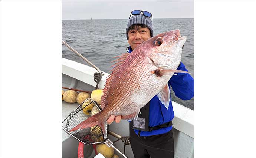
[(117, 60), (114, 60), (112, 62), (116, 62), (114, 65), (112, 65), (111, 67), (114, 67), (111, 71), (112, 73), (107, 77), (106, 79), (106, 85), (105, 87), (102, 89), (102, 97), (101, 97), (101, 108), (103, 109), (106, 105), (106, 98), (108, 97), (108, 92), (109, 92), (109, 88), (112, 84), (112, 81), (115, 78), (115, 74), (116, 72), (119, 70), (119, 67), (122, 65), (122, 63), (124, 62), (124, 60), (128, 57), (130, 53), (124, 53), (121, 56), (116, 56), (114, 58), (118, 58)]

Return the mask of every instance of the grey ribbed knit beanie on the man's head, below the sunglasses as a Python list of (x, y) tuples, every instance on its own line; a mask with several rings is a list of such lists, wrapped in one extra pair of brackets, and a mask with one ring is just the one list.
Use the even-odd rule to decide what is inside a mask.
[(127, 40), (129, 39), (128, 30), (134, 24), (142, 24), (142, 25), (147, 26), (147, 28), (150, 30), (151, 37), (153, 37), (153, 24), (152, 24), (151, 18), (146, 17), (143, 14), (140, 14), (140, 15), (132, 16), (130, 18), (130, 20), (128, 21), (128, 24), (127, 24), (127, 27), (126, 27), (126, 38), (127, 38)]

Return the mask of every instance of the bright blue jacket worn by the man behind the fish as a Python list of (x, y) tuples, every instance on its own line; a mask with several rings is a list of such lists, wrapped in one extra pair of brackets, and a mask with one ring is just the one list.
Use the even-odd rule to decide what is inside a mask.
[[(129, 47), (129, 53), (131, 52), (132, 48)], [(183, 63), (180, 63), (177, 70), (188, 71)], [(178, 98), (182, 100), (190, 100), (194, 97), (194, 79), (191, 77), (190, 74), (178, 73), (177, 75), (173, 75), (171, 79), (168, 81), (168, 84), (171, 85), (173, 91), (175, 92), (175, 95)], [(157, 95), (155, 95), (150, 100), (149, 110), (149, 127), (154, 127), (157, 125), (164, 124), (166, 122), (170, 122), (174, 118), (173, 105), (171, 104), (171, 101), (169, 104), (169, 108), (167, 110), (165, 106), (161, 103), (161, 101), (158, 99)], [(173, 127), (170, 126), (161, 128), (159, 130), (152, 130), (151, 132), (141, 131), (140, 136), (163, 134), (169, 132), (172, 128)], [(139, 130), (134, 129), (134, 131), (138, 135)]]

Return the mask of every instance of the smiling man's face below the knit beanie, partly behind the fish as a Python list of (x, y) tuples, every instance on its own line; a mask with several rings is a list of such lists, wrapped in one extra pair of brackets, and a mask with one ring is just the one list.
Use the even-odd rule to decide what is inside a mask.
[(150, 30), (147, 27), (138, 26), (138, 31), (136, 26), (129, 30), (128, 32), (128, 43), (130, 44), (132, 50), (139, 46), (144, 41), (147, 41), (150, 37)]

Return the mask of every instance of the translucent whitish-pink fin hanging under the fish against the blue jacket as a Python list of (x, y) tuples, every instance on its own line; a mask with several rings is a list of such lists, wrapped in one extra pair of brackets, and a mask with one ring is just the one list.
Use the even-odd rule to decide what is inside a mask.
[(159, 98), (161, 103), (164, 104), (164, 106), (168, 110), (169, 103), (171, 101), (171, 94), (170, 94), (170, 88), (169, 88), (168, 83), (165, 84), (164, 88), (161, 89), (161, 91), (157, 94), (157, 97)]

